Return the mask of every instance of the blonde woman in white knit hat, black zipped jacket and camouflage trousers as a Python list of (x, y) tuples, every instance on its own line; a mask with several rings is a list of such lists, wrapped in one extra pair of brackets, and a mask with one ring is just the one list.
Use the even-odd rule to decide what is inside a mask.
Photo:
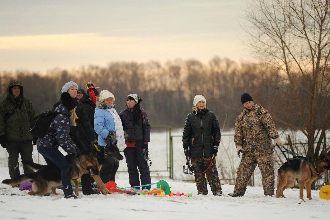
[[(193, 101), (193, 111), (187, 115), (182, 143), (184, 154), (189, 155), (195, 174), (198, 194), (207, 195), (206, 178), (215, 196), (222, 196), (221, 184), (215, 165), (215, 157), (209, 170), (204, 172), (216, 156), (221, 141), (220, 125), (213, 111), (206, 106), (206, 99), (197, 95)], [(206, 174), (206, 178), (205, 178)]]

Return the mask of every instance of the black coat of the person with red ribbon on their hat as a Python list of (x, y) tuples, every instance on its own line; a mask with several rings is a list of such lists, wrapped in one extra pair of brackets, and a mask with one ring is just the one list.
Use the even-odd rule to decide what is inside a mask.
[[(89, 122), (92, 126), (94, 126), (94, 112), (95, 112), (95, 104), (88, 97), (83, 96), (79, 99), (79, 102), (82, 103), (84, 110), (88, 116)], [(93, 129), (94, 130), (94, 129)], [(95, 133), (95, 132), (94, 132)], [(82, 141), (82, 143), (87, 147), (90, 145), (90, 140), (86, 137), (84, 132), (82, 131), (82, 126), (78, 127), (78, 138)], [(98, 138), (98, 134), (95, 133), (95, 138)]]

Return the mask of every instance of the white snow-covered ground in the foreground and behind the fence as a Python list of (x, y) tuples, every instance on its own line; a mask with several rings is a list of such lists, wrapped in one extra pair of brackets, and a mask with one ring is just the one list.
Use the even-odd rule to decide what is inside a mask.
[[(182, 131), (172, 134), (181, 135)], [(222, 163), (229, 170), (236, 168), (240, 162), (235, 155), (232, 137), (223, 136), (217, 156), (217, 164)], [(287, 189), (284, 198), (265, 197), (260, 187), (260, 172), (255, 171), (256, 187), (248, 187), (246, 195), (232, 198), (227, 194), (233, 192), (234, 186), (221, 181), (223, 196), (215, 197), (209, 191), (207, 196), (197, 196), (196, 185), (192, 175), (182, 174), (185, 158), (180, 137), (174, 139), (174, 180), (169, 179), (168, 172), (152, 172), (152, 182), (166, 180), (173, 192), (191, 193), (185, 196), (143, 196), (143, 195), (81, 195), (81, 199), (64, 199), (63, 191), (57, 189), (58, 196), (49, 197), (29, 196), (27, 191), (19, 191), (8, 185), (0, 184), (0, 219), (329, 219), (330, 200), (322, 200), (318, 191), (312, 190), (313, 200), (306, 198), (306, 203), (299, 200), (298, 189)], [(166, 170), (166, 135), (153, 133), (149, 144), (152, 166), (150, 170)], [(1, 155), (6, 155), (1, 148)], [(2, 154), (1, 154), (2, 153)], [(234, 156), (232, 156), (234, 155)], [(34, 160), (38, 156), (34, 152)], [(124, 159), (125, 160), (125, 159)], [(44, 163), (39, 158), (40, 163)], [(0, 180), (9, 178), (8, 167), (1, 161)], [(116, 183), (120, 187), (128, 187), (128, 174), (125, 161), (120, 162)], [(20, 166), (22, 171), (22, 167)], [(219, 171), (220, 172), (220, 171)], [(163, 176), (163, 177), (162, 177)], [(276, 173), (277, 176), (277, 173)], [(155, 185), (152, 186), (155, 188)], [(209, 188), (210, 190), (210, 188)], [(20, 194), (10, 196), (3, 194)]]

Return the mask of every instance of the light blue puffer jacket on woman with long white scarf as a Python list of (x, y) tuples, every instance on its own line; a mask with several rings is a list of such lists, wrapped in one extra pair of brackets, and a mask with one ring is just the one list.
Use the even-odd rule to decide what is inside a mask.
[[(114, 106), (115, 105), (113, 105), (113, 107)], [(107, 111), (107, 106), (100, 101), (96, 102), (94, 113), (94, 130), (99, 135), (97, 142), (101, 146), (107, 145), (104, 139), (108, 137), (109, 131), (116, 132), (114, 116)]]

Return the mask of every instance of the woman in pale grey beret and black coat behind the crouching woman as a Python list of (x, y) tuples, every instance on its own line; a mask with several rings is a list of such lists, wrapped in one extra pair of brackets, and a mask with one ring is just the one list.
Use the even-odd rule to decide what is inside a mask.
[[(62, 93), (68, 92), (70, 94), (70, 96), (77, 101), (77, 90), (78, 90), (77, 83), (70, 81), (70, 82), (67, 82), (64, 84), (61, 91), (62, 91)], [(57, 106), (59, 106), (60, 104), (62, 104), (61, 100), (59, 100), (58, 102), (56, 102), (53, 105), (52, 110), (55, 110), (55, 108)], [(90, 149), (87, 149), (85, 147), (85, 145), (82, 143), (81, 139), (78, 137), (78, 130), (82, 129), (84, 135), (88, 138), (89, 145), (91, 147), (93, 147), (94, 144), (96, 144), (96, 145), (98, 144), (97, 139), (95, 137), (95, 131), (93, 129), (93, 126), (90, 124), (86, 111), (81, 102), (77, 102), (76, 113), (78, 116), (78, 118), (76, 120), (77, 126), (71, 126), (70, 137), (74, 141), (76, 146), (78, 147), (78, 149), (80, 151), (80, 152), (78, 152), (79, 155), (88, 154)], [(96, 192), (92, 189), (92, 185), (90, 183), (91, 178), (88, 173), (83, 174), (81, 179), (82, 179), (82, 194), (84, 194), (84, 195), (99, 194), (98, 192)]]

